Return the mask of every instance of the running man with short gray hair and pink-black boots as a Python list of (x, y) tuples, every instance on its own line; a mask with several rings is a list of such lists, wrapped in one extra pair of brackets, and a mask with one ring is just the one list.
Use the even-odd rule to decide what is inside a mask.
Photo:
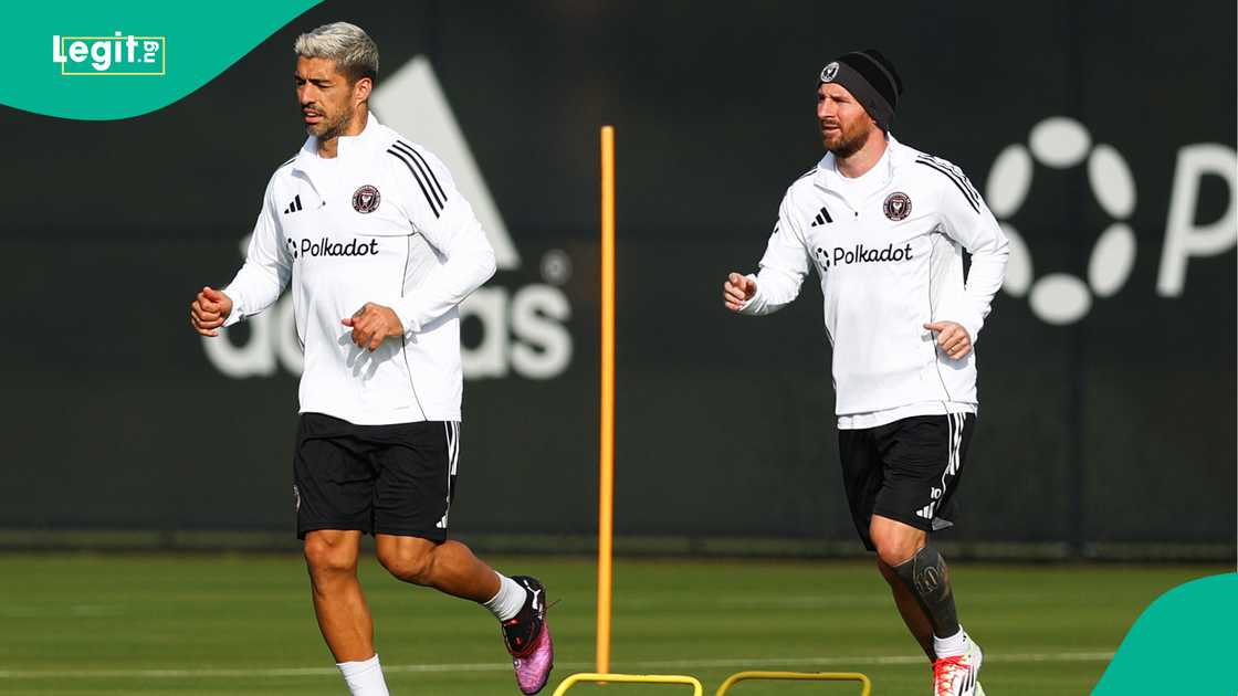
[(305, 347), (293, 452), (297, 536), (318, 627), (354, 696), (385, 696), (357, 562), (373, 534), (395, 577), (485, 606), (516, 682), (553, 666), (546, 589), (447, 539), (461, 450), (459, 303), (494, 250), (447, 167), (384, 126), (368, 100), (379, 53), (335, 22), (296, 41), (310, 137), (266, 187), (245, 264), (189, 308), (202, 336), (270, 307), (290, 282)]

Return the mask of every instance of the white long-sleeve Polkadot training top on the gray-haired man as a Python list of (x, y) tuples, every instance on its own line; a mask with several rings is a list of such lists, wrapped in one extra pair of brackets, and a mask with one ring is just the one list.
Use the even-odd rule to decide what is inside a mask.
[[(337, 156), (311, 136), (275, 171), (225, 326), (270, 307), (291, 280), (305, 349), (301, 412), (355, 425), (461, 420), (458, 305), (494, 275), (490, 248), (447, 167), (369, 114)], [(370, 353), (340, 320), (391, 307), (402, 338)]]

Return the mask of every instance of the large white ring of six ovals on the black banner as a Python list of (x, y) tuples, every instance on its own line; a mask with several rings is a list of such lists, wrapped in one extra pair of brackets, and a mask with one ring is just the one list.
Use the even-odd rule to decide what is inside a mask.
[[(1065, 170), (1084, 160), (1092, 196), (1113, 222), (1092, 248), (1087, 282), (1063, 272), (1034, 279), (1031, 253), (1009, 222), (1028, 197), (1032, 161)], [(989, 172), (985, 199), (1010, 238), (1010, 263), (1002, 287), (1015, 297), (1026, 295), (1032, 313), (1047, 323), (1080, 321), (1091, 311), (1093, 296), (1112, 297), (1134, 269), (1135, 233), (1127, 223), (1135, 211), (1135, 180), (1130, 167), (1113, 146), (1093, 145), (1083, 124), (1073, 119), (1045, 119), (1031, 129), (1026, 147), (1015, 144), (1003, 150)]]

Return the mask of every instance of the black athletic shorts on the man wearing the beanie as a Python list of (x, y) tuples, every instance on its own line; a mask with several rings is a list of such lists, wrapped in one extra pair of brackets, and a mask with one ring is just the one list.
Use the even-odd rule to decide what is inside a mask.
[(847, 504), (865, 549), (875, 550), (868, 534), (873, 515), (925, 531), (954, 524), (974, 428), (974, 414), (950, 414), (838, 431)]

